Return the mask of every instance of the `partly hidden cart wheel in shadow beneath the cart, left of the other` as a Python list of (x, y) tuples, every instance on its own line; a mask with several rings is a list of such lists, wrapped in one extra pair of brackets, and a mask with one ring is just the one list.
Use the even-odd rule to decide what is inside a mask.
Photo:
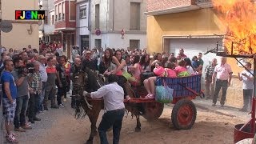
[(153, 121), (161, 116), (164, 104), (159, 102), (146, 102), (143, 104), (143, 107), (145, 113), (142, 116), (148, 121)]

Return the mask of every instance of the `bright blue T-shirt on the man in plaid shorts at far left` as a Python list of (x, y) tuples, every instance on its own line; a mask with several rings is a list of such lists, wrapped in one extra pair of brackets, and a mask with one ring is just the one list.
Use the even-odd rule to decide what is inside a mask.
[(1, 83), (2, 83), (2, 98), (7, 98), (6, 92), (5, 92), (5, 87), (4, 83), (9, 82), (10, 83), (10, 95), (11, 98), (15, 99), (17, 98), (17, 86), (14, 81), (14, 76), (8, 72), (8, 71), (3, 71), (2, 76), (1, 76)]

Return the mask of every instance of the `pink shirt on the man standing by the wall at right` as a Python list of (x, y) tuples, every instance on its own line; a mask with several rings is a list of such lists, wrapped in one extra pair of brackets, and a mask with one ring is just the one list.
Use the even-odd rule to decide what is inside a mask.
[(214, 72), (217, 73), (216, 78), (220, 80), (228, 80), (230, 73), (232, 74), (231, 66), (229, 64), (218, 64), (214, 68)]

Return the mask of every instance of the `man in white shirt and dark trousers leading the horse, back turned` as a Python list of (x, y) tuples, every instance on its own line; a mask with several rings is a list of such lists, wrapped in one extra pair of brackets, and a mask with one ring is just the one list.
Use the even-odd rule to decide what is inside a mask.
[(119, 143), (120, 131), (122, 128), (122, 118), (125, 114), (124, 91), (118, 85), (118, 78), (110, 74), (108, 81), (110, 84), (102, 86), (95, 92), (84, 94), (90, 98), (104, 99), (105, 114), (102, 116), (102, 122), (98, 126), (98, 134), (102, 144), (107, 144), (106, 131), (113, 127), (113, 143)]

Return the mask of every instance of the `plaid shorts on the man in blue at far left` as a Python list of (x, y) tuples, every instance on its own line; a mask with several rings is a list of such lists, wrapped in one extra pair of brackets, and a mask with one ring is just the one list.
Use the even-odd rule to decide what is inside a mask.
[(16, 109), (16, 99), (14, 99), (14, 103), (11, 104), (8, 98), (2, 99), (2, 114), (5, 118), (6, 122), (14, 122), (15, 116), (15, 109)]

